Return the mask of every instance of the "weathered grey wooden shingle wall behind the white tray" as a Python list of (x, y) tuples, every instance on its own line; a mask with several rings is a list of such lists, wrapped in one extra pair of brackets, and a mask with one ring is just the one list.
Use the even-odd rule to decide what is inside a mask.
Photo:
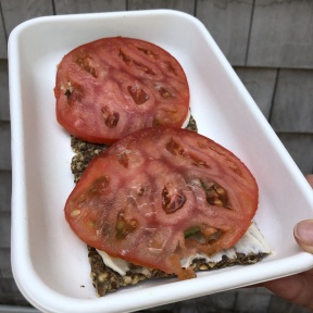
[[(300, 170), (303, 174), (312, 173), (313, 1), (0, 0), (0, 304), (27, 305), (15, 286), (10, 266), (12, 179), (7, 52), (11, 30), (26, 20), (53, 14), (160, 8), (197, 16), (208, 27)], [(240, 300), (247, 296), (245, 292), (250, 293), (250, 302), (247, 302), (248, 298)], [(205, 299), (221, 302), (216, 312), (222, 309), (223, 312), (235, 312), (235, 309), (236, 312), (287, 312), (288, 306), (281, 299), (259, 289), (235, 290)], [(201, 298), (201, 301), (205, 302), (205, 299)], [(254, 308), (255, 301), (259, 301), (258, 308)], [(195, 306), (195, 303), (185, 304)], [(215, 312), (214, 305), (211, 303), (211, 311), (205, 312)], [(249, 306), (249, 311), (247, 305), (254, 305), (254, 309)], [(285, 305), (286, 310), (275, 311), (277, 305)], [(304, 311), (289, 305), (288, 312)]]

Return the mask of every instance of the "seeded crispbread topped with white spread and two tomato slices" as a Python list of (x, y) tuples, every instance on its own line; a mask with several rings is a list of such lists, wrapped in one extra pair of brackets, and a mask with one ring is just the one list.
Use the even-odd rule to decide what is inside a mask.
[(84, 45), (62, 60), (54, 92), (58, 121), (77, 153), (65, 216), (88, 245), (99, 296), (270, 253), (252, 223), (253, 175), (190, 130), (192, 116), (189, 129), (180, 128), (190, 117), (189, 88), (165, 50), (123, 37)]

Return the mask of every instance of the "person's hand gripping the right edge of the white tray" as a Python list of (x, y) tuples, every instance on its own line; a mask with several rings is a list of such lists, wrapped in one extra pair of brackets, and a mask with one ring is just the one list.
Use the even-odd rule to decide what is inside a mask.
[[(313, 188), (313, 175), (308, 175), (306, 179)], [(299, 222), (295, 226), (293, 236), (304, 251), (313, 253), (313, 220)], [(287, 301), (313, 310), (313, 268), (259, 286), (266, 287)]]

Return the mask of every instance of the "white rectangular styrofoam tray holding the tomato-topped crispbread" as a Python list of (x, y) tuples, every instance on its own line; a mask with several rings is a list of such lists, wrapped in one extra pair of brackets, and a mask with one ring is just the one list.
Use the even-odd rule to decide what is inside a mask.
[[(273, 253), (252, 266), (152, 279), (97, 298), (86, 245), (63, 206), (74, 187), (70, 136), (55, 121), (57, 65), (73, 48), (110, 36), (149, 40), (172, 53), (190, 85), (199, 133), (235, 152), (260, 187), (255, 216)], [(12, 123), (12, 268), (26, 299), (45, 312), (126, 312), (301, 272), (313, 255), (296, 245), (296, 222), (312, 217), (313, 195), (281, 142), (195, 17), (151, 10), (34, 18), (9, 39)]]

